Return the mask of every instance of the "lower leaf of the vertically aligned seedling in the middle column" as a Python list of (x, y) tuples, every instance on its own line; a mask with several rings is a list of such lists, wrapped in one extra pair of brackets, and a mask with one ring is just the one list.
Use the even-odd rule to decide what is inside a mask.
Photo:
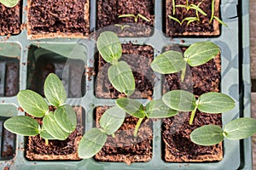
[(116, 88), (120, 93), (125, 93), (125, 95), (133, 94), (135, 80), (131, 67), (125, 61), (120, 61), (108, 68), (108, 79), (113, 88)]

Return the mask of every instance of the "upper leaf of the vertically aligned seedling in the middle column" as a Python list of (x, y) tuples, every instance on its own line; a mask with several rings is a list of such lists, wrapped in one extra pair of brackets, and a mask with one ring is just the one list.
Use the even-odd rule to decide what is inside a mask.
[(104, 31), (97, 40), (97, 48), (102, 58), (108, 63), (117, 61), (122, 56), (122, 46), (119, 37), (112, 31)]

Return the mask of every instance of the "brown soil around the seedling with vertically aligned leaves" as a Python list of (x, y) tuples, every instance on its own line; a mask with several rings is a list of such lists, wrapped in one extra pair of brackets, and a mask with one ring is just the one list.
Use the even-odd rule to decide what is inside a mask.
[[(122, 44), (123, 55), (120, 60), (125, 60), (131, 66), (135, 77), (136, 91), (131, 98), (148, 98), (153, 94), (154, 71), (150, 68), (150, 63), (154, 59), (154, 49), (150, 46), (133, 45), (132, 43)], [(96, 55), (96, 97), (97, 98), (119, 98), (125, 94), (120, 94), (108, 80), (108, 68), (110, 64)]]

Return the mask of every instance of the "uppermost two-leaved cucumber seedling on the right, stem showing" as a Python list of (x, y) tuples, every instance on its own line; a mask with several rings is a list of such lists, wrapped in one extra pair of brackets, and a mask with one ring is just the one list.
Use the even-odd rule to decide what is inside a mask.
[(187, 64), (198, 66), (207, 63), (219, 54), (218, 45), (213, 42), (195, 42), (186, 49), (184, 54), (169, 50), (157, 56), (150, 64), (151, 68), (161, 74), (182, 71), (181, 81), (185, 77)]

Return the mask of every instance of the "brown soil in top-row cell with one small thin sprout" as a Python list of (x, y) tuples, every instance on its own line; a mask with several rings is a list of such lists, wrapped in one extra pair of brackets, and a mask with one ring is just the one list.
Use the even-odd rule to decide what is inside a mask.
[[(143, 14), (150, 21), (134, 18), (118, 18), (121, 14)], [(119, 24), (125, 27), (123, 30)], [(120, 37), (148, 37), (152, 34), (154, 26), (154, 1), (153, 0), (99, 0), (97, 1), (96, 29), (108, 27)]]

